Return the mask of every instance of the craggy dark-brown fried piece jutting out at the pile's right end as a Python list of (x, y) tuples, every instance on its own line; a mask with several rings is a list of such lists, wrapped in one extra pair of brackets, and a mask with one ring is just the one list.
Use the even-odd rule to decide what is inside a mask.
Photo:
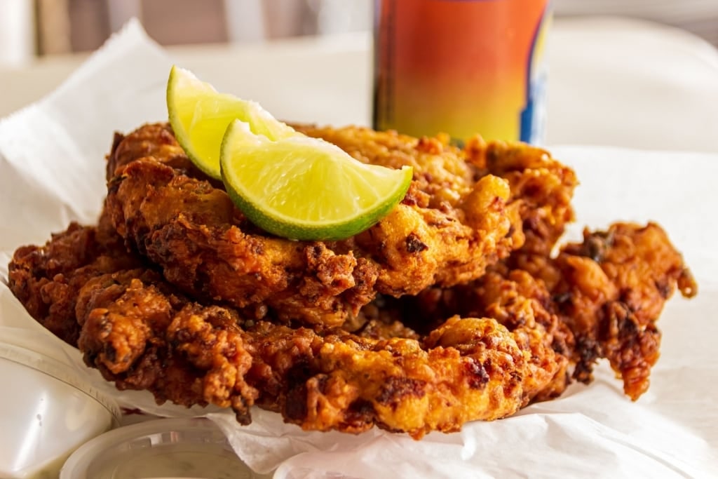
[[(550, 387), (526, 388), (529, 396), (536, 392), (533, 400), (560, 394), (569, 373), (589, 383), (600, 358), (607, 358), (623, 378), (625, 394), (638, 399), (648, 389), (651, 367), (658, 360), (661, 333), (656, 320), (663, 305), (676, 288), (684, 297), (697, 292), (665, 231), (655, 223), (616, 223), (607, 231), (584, 231), (584, 241), (564, 246), (556, 259), (532, 257), (534, 266), (541, 265), (541, 276), (551, 279), (549, 284), (527, 271), (510, 269), (509, 259), (474, 282), (406, 298), (406, 307), (423, 315), (420, 322), (428, 325), (451, 314), (485, 316), (516, 333), (536, 322), (544, 329), (541, 346), (565, 361)], [(535, 366), (540, 369), (546, 357), (536, 355)]]

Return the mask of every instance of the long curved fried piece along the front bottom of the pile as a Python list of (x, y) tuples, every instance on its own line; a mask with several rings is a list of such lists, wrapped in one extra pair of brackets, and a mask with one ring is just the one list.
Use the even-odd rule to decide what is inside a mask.
[[(61, 251), (52, 246), (48, 254)], [(60, 254), (70, 251), (81, 254)], [(513, 414), (527, 387), (550, 380), (536, 361), (549, 363), (553, 351), (537, 349), (528, 328), (512, 333), (491, 318), (454, 317), (425, 338), (397, 337), (404, 330), (396, 325), (375, 329), (374, 338), (292, 329), (193, 302), (143, 268), (92, 276), (74, 298), (76, 318), (58, 319), (81, 328), (85, 362), (108, 381), (159, 402), (231, 407), (243, 423), (256, 403), (304, 429), (376, 425), (418, 438)]]

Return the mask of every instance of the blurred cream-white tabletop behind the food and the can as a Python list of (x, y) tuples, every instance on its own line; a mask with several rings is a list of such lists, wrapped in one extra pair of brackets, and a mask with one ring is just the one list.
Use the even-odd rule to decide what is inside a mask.
[[(286, 120), (370, 121), (369, 34), (169, 52), (219, 90)], [(561, 18), (548, 56), (547, 144), (718, 152), (718, 50), (707, 42), (648, 22)], [(0, 70), (0, 116), (50, 92), (86, 57)]]

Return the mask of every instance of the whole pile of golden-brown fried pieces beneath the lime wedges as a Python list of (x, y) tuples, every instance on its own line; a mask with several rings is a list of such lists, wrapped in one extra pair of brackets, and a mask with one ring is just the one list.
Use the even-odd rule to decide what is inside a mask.
[(118, 389), (242, 424), (257, 405), (303, 429), (419, 439), (556, 398), (600, 358), (631, 399), (648, 389), (663, 304), (697, 291), (658, 225), (558, 248), (577, 179), (541, 149), (297, 129), (410, 165), (409, 192), (353, 238), (277, 238), (148, 124), (116, 134), (98, 225), (19, 248), (12, 292)]

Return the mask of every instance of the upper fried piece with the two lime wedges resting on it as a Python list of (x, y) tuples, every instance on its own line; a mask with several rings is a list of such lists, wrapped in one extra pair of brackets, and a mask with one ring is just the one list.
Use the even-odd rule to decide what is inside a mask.
[[(157, 131), (162, 147), (146, 147)], [(157, 125), (115, 141), (108, 210), (118, 233), (188, 294), (251, 308), (258, 319), (314, 325), (341, 325), (376, 292), (401, 296), (475, 279), (521, 246), (518, 206), (506, 205), (505, 180), (473, 180), (461, 152), (439, 141), (364, 133), (348, 144), (378, 164), (411, 160), (419, 180), (386, 218), (346, 241), (289, 241), (258, 231), (223, 190), (174, 167), (180, 147)], [(145, 152), (154, 156), (136, 158)]]

